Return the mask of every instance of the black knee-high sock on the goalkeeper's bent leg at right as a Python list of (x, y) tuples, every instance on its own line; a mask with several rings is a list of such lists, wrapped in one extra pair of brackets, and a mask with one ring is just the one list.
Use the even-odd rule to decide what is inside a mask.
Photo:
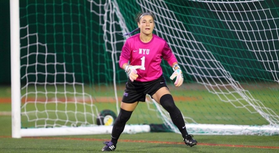
[(172, 96), (170, 94), (163, 95), (160, 99), (160, 104), (170, 113), (171, 121), (181, 132), (182, 137), (185, 138), (185, 136), (188, 135), (185, 122), (180, 110), (176, 107)]

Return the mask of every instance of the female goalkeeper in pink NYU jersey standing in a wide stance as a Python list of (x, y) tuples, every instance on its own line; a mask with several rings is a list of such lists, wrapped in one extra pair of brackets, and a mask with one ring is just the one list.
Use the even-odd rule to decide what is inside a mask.
[(192, 147), (197, 144), (197, 141), (193, 139), (193, 135), (187, 133), (182, 114), (175, 106), (160, 66), (163, 57), (174, 70), (170, 79), (176, 77), (174, 84), (179, 87), (183, 83), (183, 74), (177, 59), (166, 40), (152, 33), (155, 26), (152, 13), (141, 13), (136, 21), (138, 28), (128, 34), (138, 30), (140, 33), (126, 40), (119, 59), (119, 66), (129, 74), (129, 79), (126, 83), (120, 112), (113, 125), (111, 141), (104, 142), (105, 146), (102, 151), (116, 149), (117, 140), (123, 132), (126, 122), (130, 119), (139, 101), (145, 101), (146, 94), (149, 94), (170, 113), (170, 118), (181, 132), (185, 144)]

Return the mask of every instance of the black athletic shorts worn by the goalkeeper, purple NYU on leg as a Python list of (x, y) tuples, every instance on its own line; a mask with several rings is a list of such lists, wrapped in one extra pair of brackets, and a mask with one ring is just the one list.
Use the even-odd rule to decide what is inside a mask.
[(163, 75), (156, 80), (148, 82), (132, 82), (130, 79), (128, 79), (128, 82), (126, 83), (126, 89), (124, 90), (122, 102), (145, 102), (146, 94), (152, 96), (153, 94), (155, 94), (156, 91), (158, 91), (162, 87), (167, 87), (166, 79)]

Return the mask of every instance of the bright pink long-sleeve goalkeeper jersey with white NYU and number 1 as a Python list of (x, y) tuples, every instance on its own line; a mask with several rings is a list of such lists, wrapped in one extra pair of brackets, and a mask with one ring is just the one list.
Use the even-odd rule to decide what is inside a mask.
[(132, 66), (141, 65), (142, 68), (137, 69), (139, 77), (136, 81), (153, 81), (163, 73), (160, 66), (162, 57), (170, 66), (177, 62), (166, 40), (153, 34), (152, 39), (148, 43), (144, 43), (140, 40), (139, 34), (136, 34), (128, 38), (123, 45), (119, 66), (122, 68), (122, 65), (128, 61)]

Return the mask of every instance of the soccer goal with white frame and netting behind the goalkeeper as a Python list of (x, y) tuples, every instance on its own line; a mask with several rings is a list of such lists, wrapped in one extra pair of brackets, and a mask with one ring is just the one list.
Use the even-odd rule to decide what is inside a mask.
[[(12, 137), (110, 133), (127, 75), (122, 45), (155, 15), (184, 72), (175, 104), (191, 134), (279, 134), (279, 1), (11, 1)], [(104, 117), (105, 116), (105, 117)], [(108, 118), (106, 118), (108, 116)], [(150, 96), (126, 133), (173, 131)]]

